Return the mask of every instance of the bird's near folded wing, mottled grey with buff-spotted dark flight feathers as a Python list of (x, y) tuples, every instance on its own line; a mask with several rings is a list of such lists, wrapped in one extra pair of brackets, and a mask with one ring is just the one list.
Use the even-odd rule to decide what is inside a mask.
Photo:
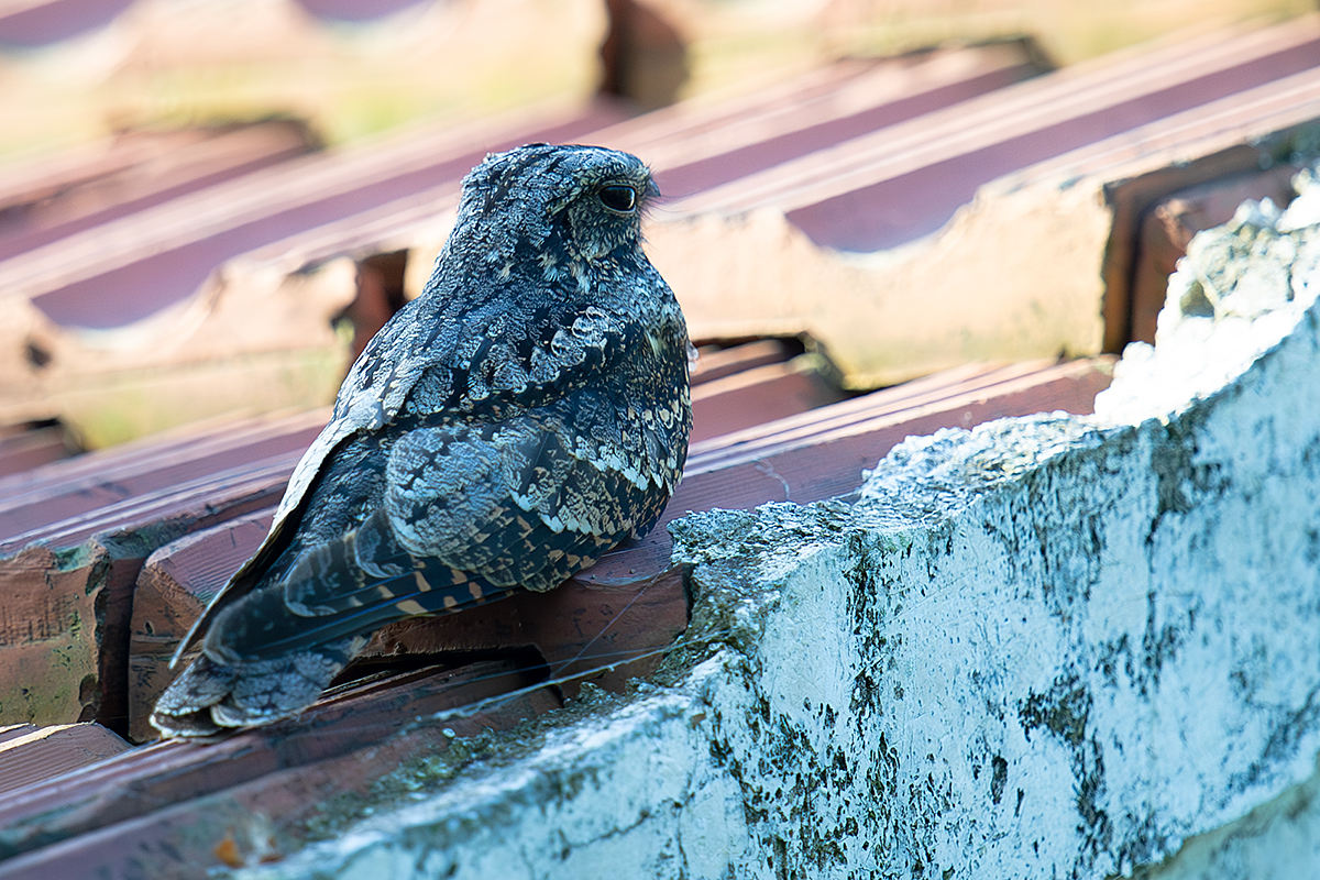
[(209, 636), (207, 652), (267, 660), (521, 587), (552, 588), (639, 517), (659, 516), (668, 497), (577, 455), (561, 426), (531, 416), (413, 430), (395, 445), (387, 484), (380, 509), (305, 551), (282, 588), (249, 599), (256, 613)]

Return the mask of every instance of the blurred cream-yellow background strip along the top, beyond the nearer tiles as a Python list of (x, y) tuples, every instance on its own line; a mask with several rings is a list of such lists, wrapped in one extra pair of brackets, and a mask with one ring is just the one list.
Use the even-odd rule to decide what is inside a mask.
[(305, 121), (325, 144), (605, 90), (653, 110), (843, 55), (1032, 34), (1059, 65), (1307, 0), (5, 0), (0, 160)]

